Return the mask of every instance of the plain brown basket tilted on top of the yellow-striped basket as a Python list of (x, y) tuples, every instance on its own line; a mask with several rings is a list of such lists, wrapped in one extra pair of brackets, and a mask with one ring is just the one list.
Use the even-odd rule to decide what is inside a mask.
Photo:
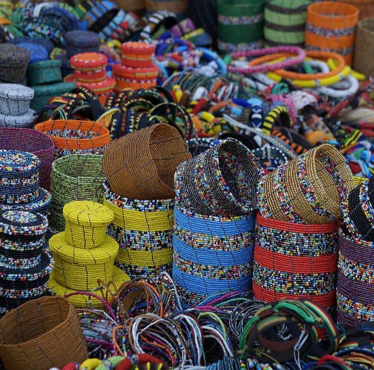
[(156, 124), (113, 140), (103, 168), (113, 192), (131, 199), (174, 197), (174, 173), (189, 159), (185, 143), (172, 126)]

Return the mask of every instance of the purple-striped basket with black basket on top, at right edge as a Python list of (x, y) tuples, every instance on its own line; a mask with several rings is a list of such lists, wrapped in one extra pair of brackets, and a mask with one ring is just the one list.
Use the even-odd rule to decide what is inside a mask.
[(342, 201), (338, 320), (355, 326), (374, 320), (374, 178), (358, 185)]

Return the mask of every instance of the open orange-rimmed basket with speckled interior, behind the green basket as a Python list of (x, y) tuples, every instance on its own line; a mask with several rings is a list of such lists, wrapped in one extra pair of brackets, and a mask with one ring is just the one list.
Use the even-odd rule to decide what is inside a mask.
[(56, 158), (70, 154), (103, 154), (110, 142), (109, 130), (90, 121), (46, 121), (35, 125), (35, 130), (52, 138)]

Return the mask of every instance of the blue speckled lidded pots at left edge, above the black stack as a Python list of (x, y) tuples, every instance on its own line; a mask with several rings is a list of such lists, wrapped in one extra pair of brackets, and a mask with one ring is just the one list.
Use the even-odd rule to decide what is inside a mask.
[(47, 213), (52, 199), (39, 187), (39, 166), (31, 153), (0, 150), (0, 209)]

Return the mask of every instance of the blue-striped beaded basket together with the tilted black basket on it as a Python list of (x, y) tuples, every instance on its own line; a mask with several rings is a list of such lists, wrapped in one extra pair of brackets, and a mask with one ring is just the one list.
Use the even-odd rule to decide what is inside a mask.
[(219, 290), (251, 289), (262, 174), (254, 155), (231, 138), (178, 167), (173, 279), (184, 308)]

